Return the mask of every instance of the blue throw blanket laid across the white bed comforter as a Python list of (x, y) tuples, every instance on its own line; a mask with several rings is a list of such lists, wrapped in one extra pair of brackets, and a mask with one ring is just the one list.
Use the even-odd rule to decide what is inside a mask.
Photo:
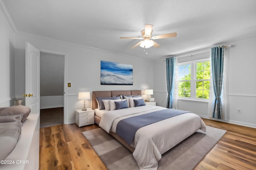
[(122, 137), (129, 145), (131, 145), (136, 131), (141, 127), (188, 112), (189, 111), (177, 109), (163, 109), (151, 113), (146, 113), (144, 115), (122, 119), (116, 126), (116, 134)]

